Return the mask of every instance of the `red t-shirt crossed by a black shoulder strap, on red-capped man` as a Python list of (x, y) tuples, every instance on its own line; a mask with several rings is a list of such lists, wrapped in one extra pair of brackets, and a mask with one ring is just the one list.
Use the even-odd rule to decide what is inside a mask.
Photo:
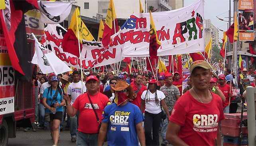
[[(96, 115), (93, 111), (91, 106), (91, 102), (88, 98), (88, 93), (82, 94), (77, 97), (74, 104), (72, 105), (73, 108), (80, 111), (79, 113), (79, 125), (78, 131), (82, 133), (98, 133), (99, 123), (97, 122)], [(108, 97), (100, 92), (95, 95), (89, 95), (93, 106), (98, 114), (98, 118), (102, 119), (102, 112), (106, 105), (110, 104)]]

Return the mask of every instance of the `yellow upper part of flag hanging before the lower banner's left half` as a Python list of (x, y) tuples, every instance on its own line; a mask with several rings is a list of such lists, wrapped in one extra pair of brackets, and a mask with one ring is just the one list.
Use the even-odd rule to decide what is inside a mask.
[(79, 41), (80, 43), (82, 43), (82, 26), (81, 26), (81, 17), (80, 17), (80, 12), (79, 9), (76, 8), (75, 12), (72, 15), (71, 21), (70, 21), (70, 25), (68, 29), (72, 29), (75, 36), (78, 39), (78, 35), (77, 35), (77, 31), (79, 31)]

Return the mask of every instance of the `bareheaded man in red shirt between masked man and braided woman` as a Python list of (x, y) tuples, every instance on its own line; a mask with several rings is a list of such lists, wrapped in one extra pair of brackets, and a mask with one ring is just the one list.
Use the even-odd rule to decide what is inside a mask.
[[(132, 104), (135, 104), (136, 106), (138, 106), (140, 108), (140, 101), (141, 101), (141, 94), (143, 91), (147, 90), (146, 86), (142, 86), (142, 75), (140, 75), (139, 73), (134, 73), (134, 84), (132, 84), (132, 88), (133, 88), (133, 94), (136, 97), (135, 99), (133, 99), (131, 101)], [(139, 90), (140, 89), (140, 90)]]

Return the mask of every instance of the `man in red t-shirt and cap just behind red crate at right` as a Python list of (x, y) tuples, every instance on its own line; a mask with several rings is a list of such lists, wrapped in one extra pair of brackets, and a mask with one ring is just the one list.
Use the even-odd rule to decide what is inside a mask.
[[(224, 113), (229, 113), (229, 97), (232, 98), (232, 94), (230, 93), (230, 86), (225, 83), (225, 76), (224, 75), (219, 75), (219, 85), (218, 87), (221, 89), (223, 92), (224, 96), (226, 97), (226, 100), (222, 102), (223, 106), (223, 112)], [(231, 101), (232, 99), (230, 99)]]

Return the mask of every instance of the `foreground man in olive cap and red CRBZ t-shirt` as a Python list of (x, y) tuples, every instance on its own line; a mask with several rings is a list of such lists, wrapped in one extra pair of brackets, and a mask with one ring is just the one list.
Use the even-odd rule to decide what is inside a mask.
[(190, 65), (193, 88), (175, 103), (169, 118), (166, 140), (172, 145), (221, 145), (219, 122), (224, 119), (220, 96), (209, 91), (212, 76), (206, 61)]

